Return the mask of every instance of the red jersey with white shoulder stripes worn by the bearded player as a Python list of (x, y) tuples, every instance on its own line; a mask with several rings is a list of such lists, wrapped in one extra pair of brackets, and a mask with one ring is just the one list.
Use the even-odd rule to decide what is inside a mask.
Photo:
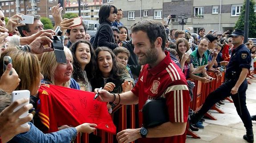
[[(165, 52), (169, 55), (168, 52)], [(167, 111), (170, 122), (185, 123), (188, 118), (188, 107), (190, 102), (187, 81), (178, 66), (170, 56), (166, 56), (154, 68), (148, 64), (143, 66), (132, 92), (139, 97), (139, 110), (142, 109), (146, 100), (158, 97), (166, 98)], [(139, 125), (142, 127), (142, 112), (139, 112)], [(170, 130), (175, 130), (171, 129)], [(139, 143), (185, 143), (186, 132), (163, 138), (140, 138)]]

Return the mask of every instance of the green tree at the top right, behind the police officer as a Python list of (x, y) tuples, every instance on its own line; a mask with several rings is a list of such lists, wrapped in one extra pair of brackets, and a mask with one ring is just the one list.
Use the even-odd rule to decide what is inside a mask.
[[(237, 29), (244, 29), (244, 19), (245, 19), (245, 2), (244, 0), (244, 5), (241, 9), (241, 14), (236, 21), (235, 28)], [(250, 0), (250, 12), (249, 12), (249, 38), (256, 38), (256, 14), (254, 12), (254, 6), (255, 6), (255, 0)]]

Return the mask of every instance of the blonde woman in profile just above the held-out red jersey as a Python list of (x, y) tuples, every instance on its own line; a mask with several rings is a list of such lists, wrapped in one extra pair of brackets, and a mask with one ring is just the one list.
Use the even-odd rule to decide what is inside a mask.
[(54, 51), (46, 52), (41, 58), (41, 73), (45, 79), (43, 82), (51, 85), (80, 89), (77, 82), (71, 78), (73, 72), (73, 56), (71, 51), (64, 47), (67, 63), (57, 63)]

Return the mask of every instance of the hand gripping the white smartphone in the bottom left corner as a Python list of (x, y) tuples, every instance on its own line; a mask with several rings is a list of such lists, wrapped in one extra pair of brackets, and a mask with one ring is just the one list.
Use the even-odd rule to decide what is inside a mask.
[(28, 111), (29, 109), (33, 108), (32, 104), (24, 105), (22, 108), (17, 110), (16, 112), (13, 112), (13, 110), (20, 106), (21, 104), (24, 104), (28, 102), (29, 99), (18, 99), (15, 102), (13, 102), (10, 106), (5, 108), (0, 113), (0, 135), (3, 143), (8, 142), (11, 140), (15, 135), (29, 131), (30, 126), (21, 127), (20, 125), (25, 124), (32, 120), (33, 115), (28, 114), (28, 116), (24, 118), (19, 118), (20, 115), (22, 115), (24, 112)]

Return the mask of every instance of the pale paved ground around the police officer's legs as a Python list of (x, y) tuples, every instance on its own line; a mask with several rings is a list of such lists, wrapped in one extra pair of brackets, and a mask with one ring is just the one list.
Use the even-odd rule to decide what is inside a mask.
[[(256, 78), (249, 79), (252, 82), (247, 89), (247, 108), (251, 115), (256, 115)], [(244, 124), (237, 115), (236, 108), (233, 103), (225, 100), (224, 105), (220, 109), (225, 114), (211, 111), (211, 114), (217, 120), (205, 120), (204, 129), (195, 131), (201, 139), (193, 139), (187, 136), (186, 143), (247, 143), (243, 139), (246, 133)], [(256, 121), (252, 121), (254, 139), (256, 140)], [(255, 141), (256, 142), (256, 141)]]

